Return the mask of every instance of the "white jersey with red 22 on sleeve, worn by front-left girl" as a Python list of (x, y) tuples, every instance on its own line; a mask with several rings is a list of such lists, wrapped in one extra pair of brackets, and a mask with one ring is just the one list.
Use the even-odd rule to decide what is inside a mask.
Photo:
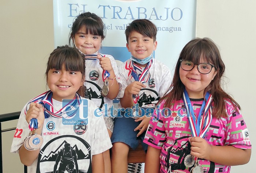
[[(103, 116), (94, 115), (97, 109), (95, 103), (88, 99), (81, 99), (83, 104), (79, 105), (79, 110), (88, 111), (88, 117), (83, 114), (72, 125), (67, 125), (65, 122), (67, 120), (62, 118), (52, 116), (45, 118), (41, 134), (44, 142), (40, 147), (38, 159), (27, 167), (28, 173), (45, 173), (55, 170), (70, 172), (74, 169), (78, 169), (79, 172), (92, 172), (92, 155), (103, 153), (112, 147)], [(52, 100), (56, 110), (62, 108), (62, 102)], [(85, 104), (87, 101), (88, 107)], [(11, 152), (14, 153), (19, 152), (30, 131), (25, 119), (25, 107), (19, 116), (11, 146)]]

